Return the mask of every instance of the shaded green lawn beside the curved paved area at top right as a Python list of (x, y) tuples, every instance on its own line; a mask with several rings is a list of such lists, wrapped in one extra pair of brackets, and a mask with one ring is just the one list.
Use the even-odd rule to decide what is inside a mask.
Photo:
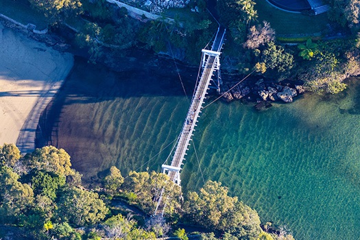
[(315, 34), (326, 29), (327, 14), (304, 16), (302, 14), (285, 12), (274, 8), (265, 0), (255, 0), (255, 10), (258, 11), (259, 22), (268, 21), (279, 36), (284, 34)]

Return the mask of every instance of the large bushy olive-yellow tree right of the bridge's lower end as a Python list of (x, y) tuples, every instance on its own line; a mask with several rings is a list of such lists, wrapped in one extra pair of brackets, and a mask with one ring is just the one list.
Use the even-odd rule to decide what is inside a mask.
[(218, 182), (206, 182), (199, 194), (190, 192), (183, 211), (186, 219), (204, 228), (235, 233), (236, 237), (257, 237), (261, 232), (256, 211), (228, 196), (228, 189)]

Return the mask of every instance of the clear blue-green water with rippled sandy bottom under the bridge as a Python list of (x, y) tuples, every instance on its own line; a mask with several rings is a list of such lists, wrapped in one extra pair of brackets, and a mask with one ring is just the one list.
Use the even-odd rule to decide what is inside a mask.
[[(189, 105), (173, 62), (158, 61), (140, 70), (132, 59), (121, 73), (75, 62), (59, 97), (58, 147), (85, 180), (96, 181), (111, 165), (126, 175), (178, 136)], [(191, 91), (197, 69), (180, 71)], [(195, 131), (204, 178), (223, 182), (263, 222), (286, 225), (296, 239), (359, 239), (359, 103), (356, 84), (265, 112), (217, 101)], [(139, 170), (159, 170), (169, 150)], [(192, 147), (181, 178), (184, 191), (202, 187)]]

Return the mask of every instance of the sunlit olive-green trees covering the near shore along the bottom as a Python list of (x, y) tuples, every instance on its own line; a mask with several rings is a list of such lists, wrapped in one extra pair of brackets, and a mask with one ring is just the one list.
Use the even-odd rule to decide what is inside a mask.
[[(25, 229), (23, 238), (155, 239), (172, 234), (187, 239), (182, 224), (213, 232), (201, 233), (200, 239), (293, 239), (269, 223), (261, 226), (256, 211), (230, 197), (218, 182), (206, 182), (184, 201), (180, 187), (154, 171), (132, 171), (123, 178), (111, 167), (104, 189), (84, 189), (69, 154), (52, 146), (21, 156), (15, 145), (4, 144), (0, 160), (0, 221)], [(168, 199), (163, 220), (150, 217), (162, 191)], [(110, 200), (119, 197), (145, 214), (112, 204)]]

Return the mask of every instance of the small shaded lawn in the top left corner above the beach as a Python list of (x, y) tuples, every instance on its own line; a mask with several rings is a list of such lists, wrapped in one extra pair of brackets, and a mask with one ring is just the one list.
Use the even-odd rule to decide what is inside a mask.
[(32, 23), (37, 30), (47, 27), (45, 16), (33, 10), (26, 0), (0, 0), (0, 13), (8, 16), (23, 25)]

